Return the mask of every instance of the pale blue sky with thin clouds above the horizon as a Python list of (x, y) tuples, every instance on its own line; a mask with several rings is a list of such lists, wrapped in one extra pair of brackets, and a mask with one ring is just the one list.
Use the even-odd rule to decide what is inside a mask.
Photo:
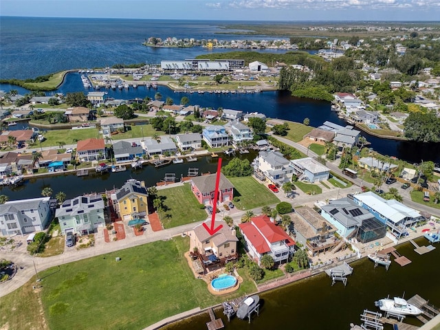
[(0, 0), (0, 15), (221, 21), (440, 21), (440, 0)]

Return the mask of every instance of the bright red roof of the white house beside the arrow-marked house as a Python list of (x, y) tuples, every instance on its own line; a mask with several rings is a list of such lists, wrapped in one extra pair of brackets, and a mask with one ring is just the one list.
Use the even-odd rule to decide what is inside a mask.
[(274, 225), (267, 215), (259, 215), (248, 223), (240, 223), (239, 228), (259, 254), (270, 252), (268, 243), (283, 241), (287, 245), (295, 245), (295, 241), (278, 225)]

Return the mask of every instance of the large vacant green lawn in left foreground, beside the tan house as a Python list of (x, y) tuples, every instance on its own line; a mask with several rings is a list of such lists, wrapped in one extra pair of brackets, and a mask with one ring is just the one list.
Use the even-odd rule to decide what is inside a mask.
[(183, 256), (188, 248), (189, 239), (177, 237), (45, 270), (39, 273), (39, 291), (32, 290), (34, 278), (0, 298), (0, 328), (36, 329), (45, 318), (48, 329), (56, 330), (143, 329), (182, 311), (255, 292), (243, 276), (234, 294), (212, 296), (190, 271)]

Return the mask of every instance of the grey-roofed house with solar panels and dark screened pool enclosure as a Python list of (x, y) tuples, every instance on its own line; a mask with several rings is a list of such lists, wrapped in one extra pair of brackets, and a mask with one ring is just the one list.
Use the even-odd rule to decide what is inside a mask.
[(345, 239), (353, 237), (361, 243), (368, 243), (382, 239), (386, 234), (384, 223), (348, 197), (321, 206), (321, 215)]

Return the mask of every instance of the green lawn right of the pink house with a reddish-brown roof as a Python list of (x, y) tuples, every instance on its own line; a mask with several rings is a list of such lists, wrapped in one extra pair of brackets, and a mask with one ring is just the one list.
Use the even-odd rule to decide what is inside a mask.
[(240, 198), (240, 201), (234, 202), (236, 208), (240, 210), (250, 210), (280, 202), (269, 188), (257, 182), (253, 177), (228, 177), (228, 179), (235, 187), (234, 197)]

